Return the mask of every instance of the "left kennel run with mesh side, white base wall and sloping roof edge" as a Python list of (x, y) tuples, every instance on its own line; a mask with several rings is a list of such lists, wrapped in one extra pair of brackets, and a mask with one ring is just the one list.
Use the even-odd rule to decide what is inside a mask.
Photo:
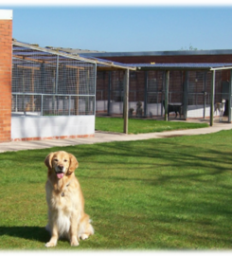
[(12, 52), (11, 139), (93, 137), (97, 65), (127, 65), (17, 41)]

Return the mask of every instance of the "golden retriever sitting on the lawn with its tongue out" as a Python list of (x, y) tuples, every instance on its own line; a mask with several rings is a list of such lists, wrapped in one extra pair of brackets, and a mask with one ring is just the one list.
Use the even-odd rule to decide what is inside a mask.
[(45, 184), (48, 207), (48, 224), (46, 229), (51, 239), (45, 247), (55, 247), (59, 237), (70, 240), (73, 247), (94, 234), (89, 215), (84, 212), (84, 198), (80, 183), (74, 174), (79, 163), (74, 155), (64, 151), (50, 153), (45, 157), (48, 168)]

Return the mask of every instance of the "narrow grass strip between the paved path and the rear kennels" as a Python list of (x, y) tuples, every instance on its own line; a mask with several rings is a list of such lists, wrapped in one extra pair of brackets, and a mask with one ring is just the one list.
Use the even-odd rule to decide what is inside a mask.
[[(184, 130), (208, 127), (207, 123), (191, 123), (186, 121), (164, 121), (155, 119), (129, 119), (129, 134), (144, 134), (171, 130)], [(123, 133), (123, 119), (96, 118), (96, 130)]]

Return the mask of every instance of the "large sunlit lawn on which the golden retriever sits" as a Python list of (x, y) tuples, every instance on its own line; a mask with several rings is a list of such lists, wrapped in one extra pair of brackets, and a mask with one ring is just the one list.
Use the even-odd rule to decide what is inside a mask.
[[(232, 131), (0, 154), (1, 254), (231, 254)], [(77, 156), (96, 234), (46, 248), (45, 155)]]

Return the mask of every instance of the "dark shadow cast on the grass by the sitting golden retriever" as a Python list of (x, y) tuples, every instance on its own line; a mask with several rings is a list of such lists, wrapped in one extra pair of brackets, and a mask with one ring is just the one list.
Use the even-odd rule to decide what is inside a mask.
[(0, 227), (0, 237), (3, 235), (40, 241), (42, 243), (46, 243), (50, 239), (50, 234), (44, 227)]

